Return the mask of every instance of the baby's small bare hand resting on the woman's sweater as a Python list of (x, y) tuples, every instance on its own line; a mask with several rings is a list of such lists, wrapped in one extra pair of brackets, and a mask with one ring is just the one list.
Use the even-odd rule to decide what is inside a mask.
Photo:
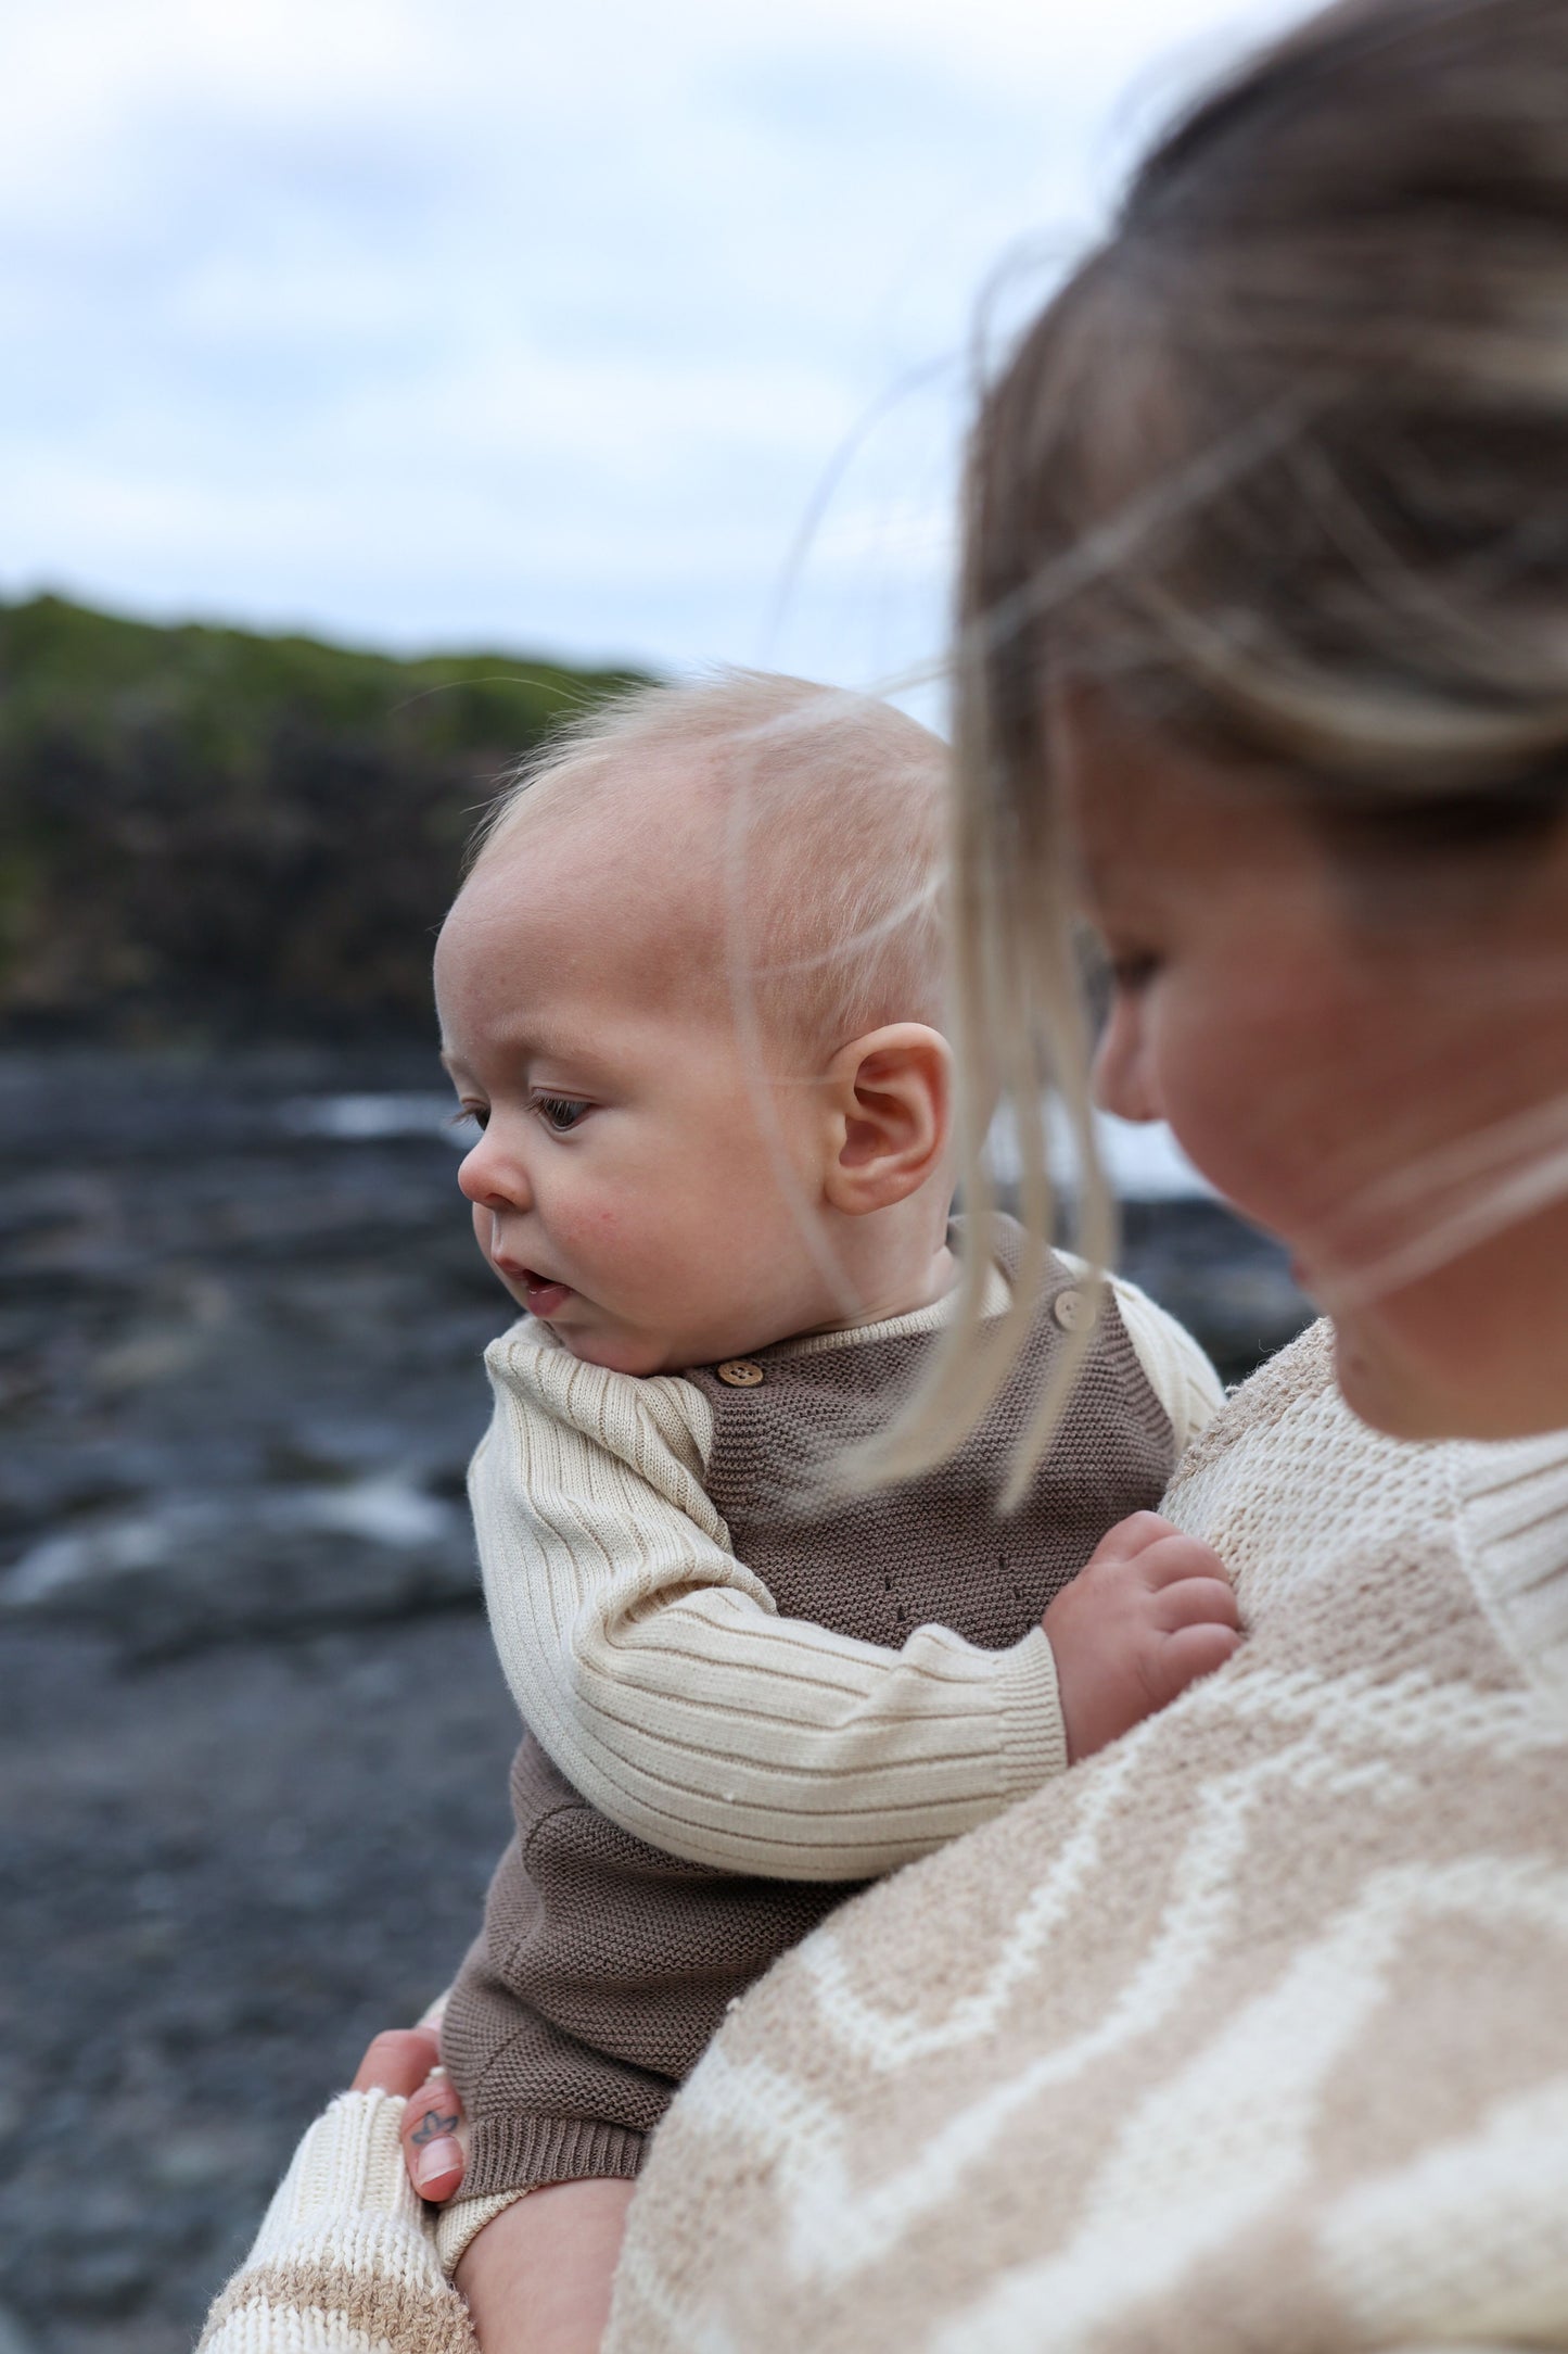
[(1225, 1667), (1241, 1641), (1225, 1563), (1157, 1511), (1117, 1521), (1041, 1624), (1056, 1653), (1070, 1763)]

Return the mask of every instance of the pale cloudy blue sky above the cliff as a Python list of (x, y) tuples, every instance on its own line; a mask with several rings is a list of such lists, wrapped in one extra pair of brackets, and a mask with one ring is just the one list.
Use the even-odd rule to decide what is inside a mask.
[(976, 365), (1279, 0), (0, 0), (0, 593), (884, 685)]

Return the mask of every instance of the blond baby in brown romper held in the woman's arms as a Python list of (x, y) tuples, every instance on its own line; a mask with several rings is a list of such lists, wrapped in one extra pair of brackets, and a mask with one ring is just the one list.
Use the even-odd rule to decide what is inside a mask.
[[(644, 2140), (778, 1954), (1237, 1643), (1220, 1563), (1147, 1509), (1220, 1389), (1133, 1285), (1018, 1514), (1006, 1452), (1086, 1314), (1065, 1259), (940, 1471), (827, 1478), (954, 1252), (990, 1252), (990, 1314), (1016, 1274), (1006, 1222), (950, 1224), (943, 767), (799, 680), (632, 694), (503, 800), (440, 937), (461, 1186), (527, 1309), (470, 1474), (517, 1838), (442, 2022), (442, 2250), (487, 2354), (597, 2342)], [(454, 2116), (409, 2102), (425, 2189)]]

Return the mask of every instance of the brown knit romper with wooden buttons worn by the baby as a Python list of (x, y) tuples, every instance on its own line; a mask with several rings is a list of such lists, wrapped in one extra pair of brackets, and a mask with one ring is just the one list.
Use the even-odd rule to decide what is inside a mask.
[[(1018, 1231), (999, 1222), (1011, 1274)], [(1027, 1504), (994, 1507), (999, 1467), (1065, 1346), (1053, 1262), (1030, 1344), (990, 1412), (933, 1471), (875, 1495), (802, 1504), (811, 1471), (886, 1422), (933, 1335), (757, 1354), (762, 1382), (689, 1375), (712, 1403), (708, 1492), (736, 1558), (785, 1617), (903, 1648), (929, 1622), (1004, 1650), (1107, 1528), (1159, 1502), (1171, 1419), (1107, 1295)], [(1065, 1309), (1063, 1314), (1070, 1314)], [(863, 1883), (769, 1881), (686, 1864), (599, 1815), (524, 1735), (517, 1836), (501, 1857), (447, 2006), (442, 2055), (473, 2123), (465, 2196), (635, 2175), (644, 2135), (724, 2006)]]

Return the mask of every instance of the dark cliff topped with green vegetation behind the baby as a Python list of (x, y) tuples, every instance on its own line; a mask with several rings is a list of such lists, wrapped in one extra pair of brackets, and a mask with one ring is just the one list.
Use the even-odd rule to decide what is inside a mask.
[(628, 678), (0, 605), (0, 1033), (425, 1026), (475, 812)]

